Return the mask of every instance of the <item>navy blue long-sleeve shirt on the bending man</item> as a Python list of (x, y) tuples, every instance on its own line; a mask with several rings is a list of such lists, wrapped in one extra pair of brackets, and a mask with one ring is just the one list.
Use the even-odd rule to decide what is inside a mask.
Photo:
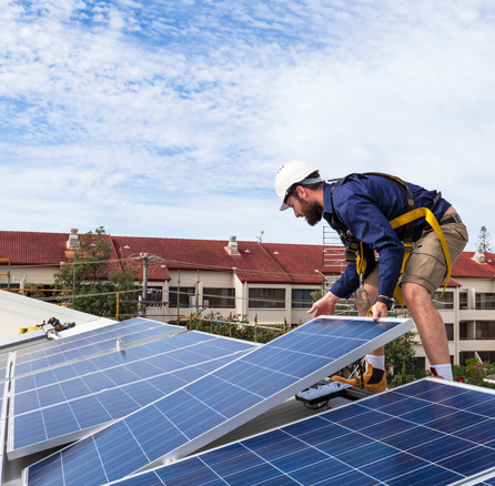
[[(436, 191), (428, 191), (420, 185), (406, 183), (415, 207), (430, 207)], [(333, 191), (332, 191), (333, 186)], [(364, 243), (366, 274), (373, 269), (374, 252), (380, 255), (378, 295), (392, 297), (401, 274), (404, 245), (404, 226), (393, 230), (388, 221), (407, 212), (407, 191), (398, 182), (383, 175), (350, 174), (335, 184), (325, 183), (323, 188), (323, 217), (334, 229), (335, 217), (341, 226), (350, 230)], [(441, 199), (433, 209), (440, 221), (451, 204)], [(341, 227), (342, 229), (342, 227)], [(424, 230), (431, 226), (421, 217), (414, 222), (413, 241), (420, 239)], [(341, 298), (348, 298), (360, 286), (356, 264), (348, 263), (341, 279), (331, 292)]]

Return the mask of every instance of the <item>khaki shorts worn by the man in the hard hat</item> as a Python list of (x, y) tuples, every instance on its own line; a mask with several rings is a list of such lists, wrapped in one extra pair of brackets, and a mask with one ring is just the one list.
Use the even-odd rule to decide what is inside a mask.
[[(447, 242), (452, 264), (454, 264), (468, 240), (466, 226), (463, 223), (448, 223), (441, 227)], [(365, 283), (378, 287), (378, 272), (380, 265), (375, 265)], [(415, 283), (433, 294), (446, 276), (447, 265), (438, 236), (433, 230), (425, 231), (415, 242), (415, 247), (398, 284)]]

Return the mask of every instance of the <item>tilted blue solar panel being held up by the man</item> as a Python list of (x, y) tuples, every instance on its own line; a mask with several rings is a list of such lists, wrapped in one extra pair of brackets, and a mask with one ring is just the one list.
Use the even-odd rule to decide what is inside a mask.
[(30, 485), (100, 485), (193, 453), (412, 328), (319, 317), (26, 470)]

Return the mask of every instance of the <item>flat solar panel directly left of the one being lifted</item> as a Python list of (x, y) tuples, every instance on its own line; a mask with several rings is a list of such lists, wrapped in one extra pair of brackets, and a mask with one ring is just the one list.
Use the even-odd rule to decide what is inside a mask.
[(17, 378), (9, 459), (81, 438), (254, 347), (193, 331)]

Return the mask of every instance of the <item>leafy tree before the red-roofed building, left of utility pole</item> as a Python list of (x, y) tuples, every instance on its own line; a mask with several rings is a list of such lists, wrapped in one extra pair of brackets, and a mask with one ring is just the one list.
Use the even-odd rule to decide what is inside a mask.
[[(138, 302), (133, 302), (137, 292), (135, 280), (139, 266), (130, 262), (112, 260), (112, 244), (103, 226), (94, 233), (80, 235), (79, 247), (68, 262), (61, 265), (54, 275), (55, 288), (72, 288), (72, 295), (62, 301), (73, 308), (101, 317), (117, 314), (117, 294), (121, 293), (125, 302), (120, 303), (119, 314), (135, 315)], [(131, 298), (129, 298), (131, 296)]]

